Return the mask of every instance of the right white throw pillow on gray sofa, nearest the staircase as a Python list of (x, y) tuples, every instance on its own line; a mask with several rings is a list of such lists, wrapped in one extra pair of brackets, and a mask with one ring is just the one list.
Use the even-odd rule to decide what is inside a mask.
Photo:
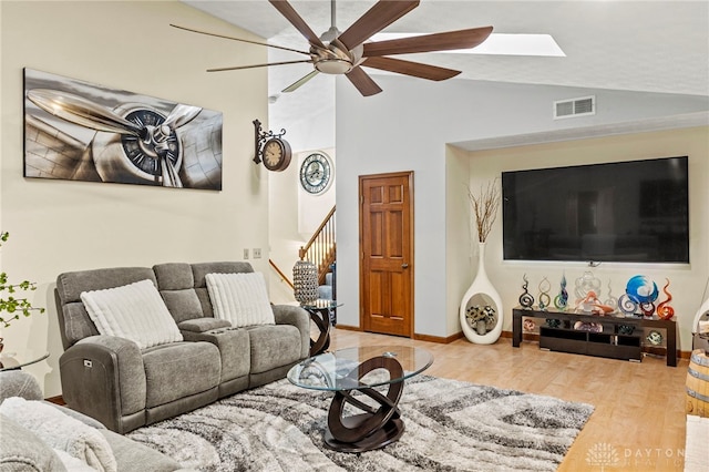
[(276, 324), (261, 273), (207, 274), (205, 278), (215, 318), (236, 328)]

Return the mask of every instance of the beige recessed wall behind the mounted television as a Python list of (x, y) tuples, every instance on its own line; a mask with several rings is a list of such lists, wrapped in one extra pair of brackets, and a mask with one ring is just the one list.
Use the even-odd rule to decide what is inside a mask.
[[(451, 148), (448, 152), (449, 167), (451, 163), (460, 163), (461, 156), (465, 154), (470, 165), (469, 185), (473, 189), (500, 177), (501, 173), (505, 171), (688, 155), (691, 263), (689, 265), (604, 263), (594, 268), (593, 273), (603, 280), (602, 299), (605, 299), (607, 295), (609, 281), (613, 294), (618, 297), (625, 291), (627, 280), (635, 275), (648, 276), (660, 288), (665, 285), (665, 278), (669, 278), (671, 283), (669, 291), (672, 294), (672, 307), (680, 334), (679, 347), (685, 351), (691, 350), (691, 322), (695, 312), (702, 302), (702, 294), (703, 297), (708, 296), (705, 294), (705, 287), (709, 279), (709, 213), (707, 213), (709, 187), (706, 185), (706, 176), (709, 175), (709, 127), (636, 133), (480, 152), (462, 152)], [(460, 166), (460, 164), (456, 165)], [(449, 176), (454, 175), (449, 172)], [(455, 181), (451, 178), (449, 182)], [(449, 184), (449, 188), (455, 187)], [(449, 192), (449, 205), (453, 201), (458, 206), (449, 207), (449, 217), (455, 217), (453, 208), (458, 208), (458, 217), (467, 218), (464, 212), (469, 209), (460, 204), (460, 202), (466, 201), (464, 193), (460, 193), (458, 196), (450, 194), (451, 192)], [(555, 295), (558, 293), (562, 274), (566, 274), (567, 289), (573, 289), (574, 280), (588, 270), (588, 267), (585, 263), (504, 261), (502, 258), (501, 218), (500, 214), (487, 239), (485, 269), (503, 300), (505, 311), (503, 329), (511, 330), (512, 308), (518, 305), (517, 299), (522, 294), (521, 286), (524, 274), (530, 279), (530, 291), (536, 298), (538, 295), (537, 286), (544, 276), (548, 277), (552, 283), (552, 291)], [(449, 287), (451, 287), (450, 291), (454, 291), (453, 288), (459, 291), (458, 304), (449, 305), (449, 325), (455, 325), (460, 298), (476, 271), (475, 253), (465, 247), (469, 240), (459, 242), (448, 247)], [(460, 267), (460, 264), (454, 260), (461, 254), (467, 254), (466, 260), (470, 260), (470, 268), (466, 275), (456, 276), (455, 267)], [(458, 275), (460, 274), (458, 271)], [(571, 289), (569, 294), (573, 294)], [(661, 294), (660, 300), (664, 299), (665, 296)], [(456, 330), (460, 330), (460, 325)]]

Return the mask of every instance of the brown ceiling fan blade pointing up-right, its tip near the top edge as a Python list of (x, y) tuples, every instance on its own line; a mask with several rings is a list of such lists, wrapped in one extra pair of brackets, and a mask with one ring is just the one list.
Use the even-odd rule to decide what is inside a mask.
[(418, 6), (419, 0), (379, 0), (338, 39), (351, 50)]

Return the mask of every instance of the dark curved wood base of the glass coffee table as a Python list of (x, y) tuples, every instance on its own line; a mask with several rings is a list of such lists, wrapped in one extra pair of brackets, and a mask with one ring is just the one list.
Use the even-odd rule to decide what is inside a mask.
[[(380, 356), (369, 359), (349, 373), (349, 378), (359, 381), (374, 369), (387, 369), (391, 379), (403, 377), (403, 369), (393, 357)], [(335, 393), (328, 412), (328, 431), (325, 443), (340, 452), (364, 452), (383, 448), (397, 441), (403, 434), (403, 421), (400, 418), (399, 399), (403, 391), (403, 381), (389, 384), (387, 394), (373, 388), (342, 390)], [(370, 406), (353, 397), (359, 392), (374, 400)], [(349, 404), (363, 411), (360, 414), (345, 417), (345, 407)], [(350, 409), (351, 410), (351, 409)]]

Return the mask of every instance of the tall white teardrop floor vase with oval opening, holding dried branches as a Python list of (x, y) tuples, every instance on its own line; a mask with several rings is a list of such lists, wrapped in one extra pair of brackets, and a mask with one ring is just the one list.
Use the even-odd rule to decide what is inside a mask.
[[(479, 335), (475, 327), (471, 327), (467, 322), (465, 314), (470, 307), (479, 305), (481, 307), (490, 306), (495, 310), (497, 320), (495, 326), (487, 330), (484, 335)], [(461, 300), (460, 320), (463, 334), (469, 341), (476, 345), (492, 345), (500, 338), (502, 332), (502, 319), (504, 311), (502, 308), (502, 299), (495, 287), (491, 284), (485, 273), (485, 243), (477, 244), (477, 275), (471, 284), (463, 299)]]

